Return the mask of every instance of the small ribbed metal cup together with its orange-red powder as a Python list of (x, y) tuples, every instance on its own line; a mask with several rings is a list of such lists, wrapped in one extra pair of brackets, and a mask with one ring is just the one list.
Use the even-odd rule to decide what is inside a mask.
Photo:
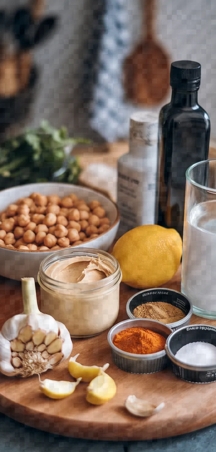
[(113, 362), (125, 372), (160, 372), (168, 364), (164, 348), (171, 333), (171, 328), (155, 320), (128, 319), (117, 323), (108, 332)]

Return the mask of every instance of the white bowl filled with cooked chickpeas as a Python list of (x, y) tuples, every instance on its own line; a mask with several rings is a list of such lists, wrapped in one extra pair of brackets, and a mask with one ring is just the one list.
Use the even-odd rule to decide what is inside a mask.
[(42, 260), (68, 247), (107, 251), (117, 234), (117, 205), (102, 193), (61, 183), (0, 192), (0, 276), (37, 281)]

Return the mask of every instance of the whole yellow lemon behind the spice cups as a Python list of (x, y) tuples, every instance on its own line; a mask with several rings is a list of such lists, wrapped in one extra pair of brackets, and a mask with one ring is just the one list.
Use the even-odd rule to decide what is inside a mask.
[(131, 287), (160, 287), (178, 270), (182, 239), (175, 229), (138, 226), (116, 242), (113, 256), (122, 270), (122, 281)]

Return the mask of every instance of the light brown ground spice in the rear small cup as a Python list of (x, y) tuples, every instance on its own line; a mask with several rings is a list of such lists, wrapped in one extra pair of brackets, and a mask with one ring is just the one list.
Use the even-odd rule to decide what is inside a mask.
[(185, 317), (181, 309), (163, 301), (143, 303), (133, 310), (133, 315), (138, 319), (159, 320), (162, 323), (178, 322), (178, 320), (182, 320)]

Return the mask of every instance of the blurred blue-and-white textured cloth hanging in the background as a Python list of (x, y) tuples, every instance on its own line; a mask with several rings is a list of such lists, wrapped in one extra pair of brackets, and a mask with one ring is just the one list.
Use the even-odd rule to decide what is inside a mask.
[(107, 141), (128, 135), (128, 110), (122, 87), (122, 63), (129, 52), (127, 19), (126, 0), (106, 0), (90, 125)]

